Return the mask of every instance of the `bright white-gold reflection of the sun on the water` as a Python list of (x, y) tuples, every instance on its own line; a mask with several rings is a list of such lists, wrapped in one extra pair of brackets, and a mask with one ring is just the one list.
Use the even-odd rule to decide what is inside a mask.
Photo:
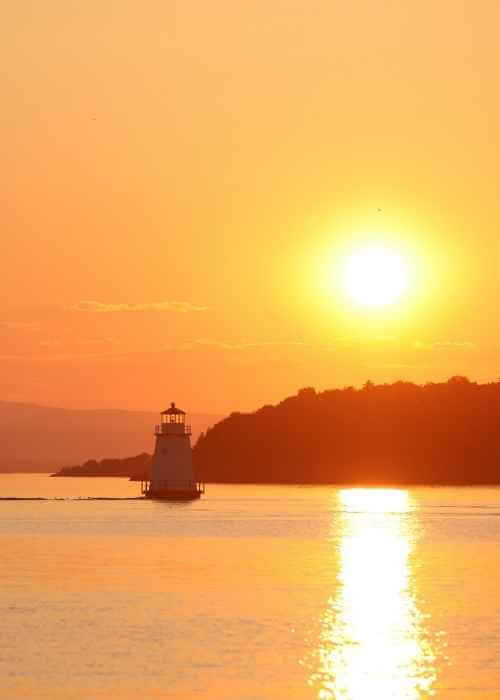
[(436, 658), (415, 601), (408, 492), (344, 489), (339, 500), (338, 588), (323, 615), (310, 684), (318, 700), (432, 696)]

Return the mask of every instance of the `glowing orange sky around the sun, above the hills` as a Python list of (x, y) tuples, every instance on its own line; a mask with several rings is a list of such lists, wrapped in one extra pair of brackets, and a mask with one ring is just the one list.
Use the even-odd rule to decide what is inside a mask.
[[(498, 2), (0, 12), (1, 398), (216, 413), (500, 375)], [(325, 284), (365, 240), (416, 263), (383, 312)]]

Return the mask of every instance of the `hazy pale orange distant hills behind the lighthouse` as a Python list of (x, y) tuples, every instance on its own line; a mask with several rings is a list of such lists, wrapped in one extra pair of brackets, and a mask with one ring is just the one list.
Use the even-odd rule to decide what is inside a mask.
[[(193, 439), (221, 416), (189, 416)], [(0, 472), (56, 471), (89, 459), (151, 452), (158, 413), (73, 410), (0, 401)]]

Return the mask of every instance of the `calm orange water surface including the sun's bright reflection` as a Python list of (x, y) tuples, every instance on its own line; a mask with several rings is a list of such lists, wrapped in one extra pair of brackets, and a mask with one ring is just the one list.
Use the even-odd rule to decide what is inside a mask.
[(500, 489), (481, 488), (2, 501), (0, 697), (498, 699), (499, 516)]

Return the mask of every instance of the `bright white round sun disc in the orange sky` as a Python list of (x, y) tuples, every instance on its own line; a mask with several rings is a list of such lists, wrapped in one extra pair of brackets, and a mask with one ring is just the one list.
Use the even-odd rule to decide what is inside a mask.
[(393, 304), (407, 290), (409, 281), (406, 260), (383, 246), (359, 248), (346, 258), (343, 267), (344, 292), (362, 306)]

